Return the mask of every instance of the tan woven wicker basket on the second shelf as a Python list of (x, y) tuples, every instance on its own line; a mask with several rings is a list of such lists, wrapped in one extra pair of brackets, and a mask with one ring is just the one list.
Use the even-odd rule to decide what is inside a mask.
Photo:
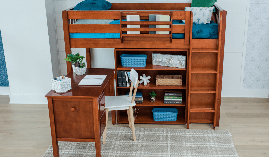
[(182, 76), (156, 75), (156, 86), (182, 86)]

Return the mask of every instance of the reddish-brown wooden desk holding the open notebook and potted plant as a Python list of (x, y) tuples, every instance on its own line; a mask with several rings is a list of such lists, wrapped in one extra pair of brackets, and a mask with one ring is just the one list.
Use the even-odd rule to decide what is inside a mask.
[[(85, 75), (107, 75), (101, 86), (78, 85)], [(69, 72), (72, 89), (51, 90), (48, 98), (53, 156), (59, 157), (58, 141), (95, 142), (101, 157), (101, 135), (105, 129), (105, 96), (114, 95), (114, 69), (87, 69), (85, 75)], [(71, 110), (72, 109), (72, 110)]]

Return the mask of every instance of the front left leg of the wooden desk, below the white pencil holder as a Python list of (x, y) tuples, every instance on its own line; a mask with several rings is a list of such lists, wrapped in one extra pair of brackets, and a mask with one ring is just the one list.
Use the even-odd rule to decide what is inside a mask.
[(50, 126), (51, 126), (53, 156), (60, 157), (59, 145), (58, 145), (58, 141), (56, 141), (56, 131), (55, 131), (55, 123), (54, 123), (52, 98), (48, 98), (48, 107), (49, 107), (49, 121), (50, 121)]

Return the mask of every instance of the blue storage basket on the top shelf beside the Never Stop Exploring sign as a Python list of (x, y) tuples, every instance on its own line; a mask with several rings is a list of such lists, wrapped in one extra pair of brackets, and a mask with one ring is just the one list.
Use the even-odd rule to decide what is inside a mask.
[(121, 66), (123, 67), (146, 67), (146, 54), (122, 54)]

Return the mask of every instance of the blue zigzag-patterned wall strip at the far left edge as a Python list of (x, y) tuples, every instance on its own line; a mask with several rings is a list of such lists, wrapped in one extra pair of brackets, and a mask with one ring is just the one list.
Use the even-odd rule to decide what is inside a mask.
[(9, 87), (8, 83), (8, 73), (6, 72), (6, 61), (2, 43), (2, 36), (0, 30), (0, 86)]

